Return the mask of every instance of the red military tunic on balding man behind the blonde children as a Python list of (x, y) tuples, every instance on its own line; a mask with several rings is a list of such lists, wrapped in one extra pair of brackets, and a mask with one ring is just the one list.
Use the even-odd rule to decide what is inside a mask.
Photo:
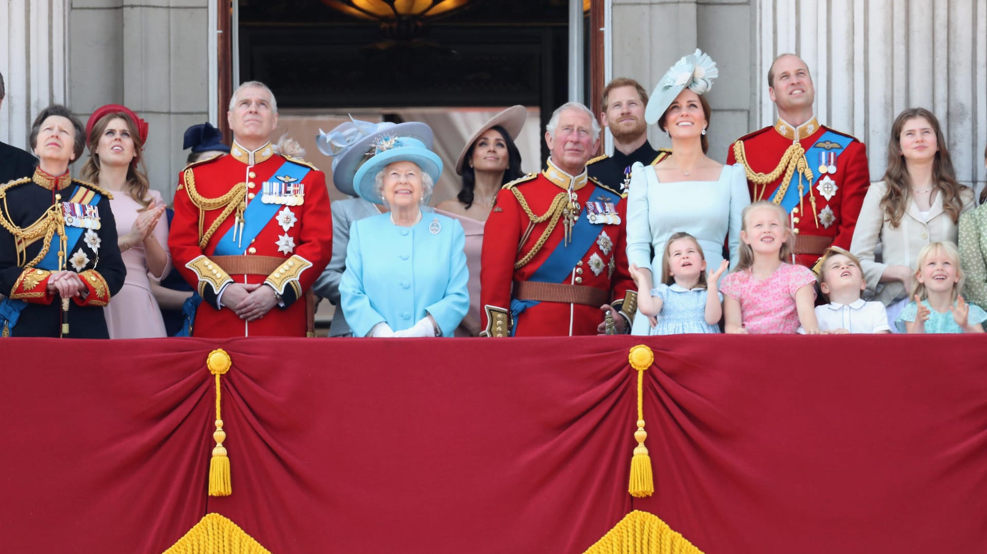
[[(835, 141), (822, 138), (827, 132), (836, 133), (848, 142), (840, 147)], [(815, 146), (809, 156), (805, 151)], [(791, 153), (789, 152), (791, 149)], [(823, 153), (820, 158), (819, 152)], [(783, 158), (788, 154), (789, 160)], [(828, 156), (835, 157), (836, 171), (827, 168), (820, 172), (820, 165), (829, 164)], [(785, 161), (785, 163), (781, 163)], [(794, 127), (778, 119), (773, 127), (764, 127), (733, 143), (726, 156), (726, 163), (741, 163), (747, 170), (747, 185), (751, 200), (761, 199), (781, 202), (775, 194), (788, 174), (801, 166), (804, 195), (791, 210), (796, 229), (796, 261), (812, 268), (829, 246), (850, 250), (857, 216), (871, 185), (867, 164), (867, 149), (856, 138), (819, 125), (815, 118)], [(808, 179), (811, 172), (811, 182)], [(771, 174), (777, 173), (774, 179)], [(824, 183), (826, 179), (829, 179)], [(760, 183), (758, 183), (760, 182)], [(798, 179), (790, 186), (789, 195), (797, 194)], [(814, 200), (814, 206), (813, 206)]]

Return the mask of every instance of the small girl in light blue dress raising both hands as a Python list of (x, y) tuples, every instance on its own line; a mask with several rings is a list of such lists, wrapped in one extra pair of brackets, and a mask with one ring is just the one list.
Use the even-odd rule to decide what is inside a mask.
[[(720, 333), (723, 295), (717, 282), (729, 263), (707, 277), (703, 247), (689, 233), (675, 233), (665, 243), (661, 261), (664, 276), (650, 295), (638, 294), (638, 309), (651, 323), (651, 335)], [(638, 290), (647, 290), (650, 276), (631, 265), (631, 276)]]

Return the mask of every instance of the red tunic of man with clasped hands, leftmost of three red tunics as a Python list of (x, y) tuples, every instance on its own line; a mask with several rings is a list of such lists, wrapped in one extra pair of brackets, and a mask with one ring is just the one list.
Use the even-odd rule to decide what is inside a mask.
[[(294, 171), (308, 170), (298, 183), (290, 177), (284, 183), (278, 179), (285, 175), (279, 170), (286, 162), (295, 164), (290, 168)], [(253, 240), (249, 236), (232, 240), (227, 232), (238, 213), (244, 213), (252, 202), (262, 202), (268, 182), (280, 186), (277, 195), (268, 197), (273, 199), (269, 203), (277, 204), (274, 215), (265, 221), (254, 218), (261, 230)], [(287, 188), (287, 182), (294, 188)], [(249, 228), (251, 212), (245, 217)], [(229, 244), (223, 248), (236, 247), (239, 242), (245, 251), (217, 255), (224, 240)], [(179, 176), (168, 246), (175, 267), (202, 296), (193, 337), (304, 337), (304, 293), (333, 252), (326, 176), (304, 161), (275, 154), (269, 143), (251, 152), (234, 142), (230, 155), (192, 164)], [(232, 309), (220, 308), (220, 293), (232, 282), (266, 283), (280, 295), (283, 306), (274, 306), (261, 319), (247, 323)]]

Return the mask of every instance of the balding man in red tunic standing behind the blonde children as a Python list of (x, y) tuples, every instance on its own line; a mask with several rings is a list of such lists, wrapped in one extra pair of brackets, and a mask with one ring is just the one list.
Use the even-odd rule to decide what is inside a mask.
[(820, 125), (805, 62), (782, 54), (768, 71), (778, 121), (737, 139), (726, 163), (747, 170), (751, 199), (771, 200), (791, 214), (796, 262), (813, 268), (830, 246), (849, 250), (871, 178), (864, 143)]

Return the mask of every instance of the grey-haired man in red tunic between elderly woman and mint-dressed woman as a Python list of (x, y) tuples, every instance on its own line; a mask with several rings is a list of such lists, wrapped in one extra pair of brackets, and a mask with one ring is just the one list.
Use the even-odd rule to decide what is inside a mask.
[(605, 314), (610, 332), (630, 328), (638, 297), (624, 197), (586, 176), (599, 133), (588, 108), (562, 106), (545, 132), (548, 168), (497, 194), (481, 260), (482, 336), (595, 335)]

